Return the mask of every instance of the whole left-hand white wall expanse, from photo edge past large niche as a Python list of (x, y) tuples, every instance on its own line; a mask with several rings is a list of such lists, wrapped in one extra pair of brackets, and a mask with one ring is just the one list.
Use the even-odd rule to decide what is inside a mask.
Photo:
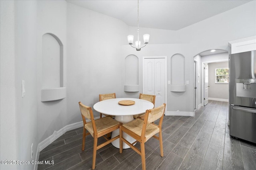
[(40, 102), (44, 33), (66, 43), (66, 1), (1, 1), (1, 160), (35, 160), (38, 143), (66, 125), (65, 100)]

